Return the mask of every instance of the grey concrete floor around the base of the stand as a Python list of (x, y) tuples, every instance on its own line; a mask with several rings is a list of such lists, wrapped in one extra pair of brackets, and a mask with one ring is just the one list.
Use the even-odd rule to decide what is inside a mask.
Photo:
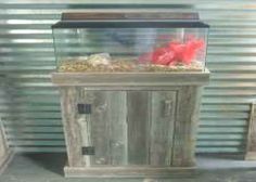
[(256, 182), (256, 161), (238, 156), (200, 156), (193, 177), (171, 179), (65, 179), (63, 154), (16, 155), (0, 182)]

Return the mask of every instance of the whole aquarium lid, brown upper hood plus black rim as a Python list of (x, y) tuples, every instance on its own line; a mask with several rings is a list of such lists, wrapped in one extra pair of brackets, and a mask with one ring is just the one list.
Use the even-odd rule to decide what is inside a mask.
[(208, 28), (196, 12), (71, 12), (52, 28)]

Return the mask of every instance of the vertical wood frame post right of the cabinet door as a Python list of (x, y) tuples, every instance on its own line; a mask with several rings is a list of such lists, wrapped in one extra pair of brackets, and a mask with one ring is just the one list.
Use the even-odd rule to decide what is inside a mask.
[(201, 88), (184, 86), (178, 91), (172, 166), (194, 166), (195, 134)]

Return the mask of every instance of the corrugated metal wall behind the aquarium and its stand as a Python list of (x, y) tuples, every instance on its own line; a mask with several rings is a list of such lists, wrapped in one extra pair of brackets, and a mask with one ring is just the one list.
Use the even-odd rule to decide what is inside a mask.
[(212, 80), (203, 95), (197, 152), (243, 152), (248, 103), (256, 99), (254, 0), (5, 2), (0, 3), (0, 112), (9, 144), (16, 151), (65, 150), (59, 95), (50, 81), (55, 66), (50, 26), (61, 12), (164, 8), (197, 11), (212, 26), (207, 56)]

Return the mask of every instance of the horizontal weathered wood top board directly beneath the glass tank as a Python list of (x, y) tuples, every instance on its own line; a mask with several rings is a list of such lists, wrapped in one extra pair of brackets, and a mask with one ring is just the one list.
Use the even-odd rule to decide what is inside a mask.
[(208, 82), (209, 73), (53, 73), (57, 86), (202, 86)]

